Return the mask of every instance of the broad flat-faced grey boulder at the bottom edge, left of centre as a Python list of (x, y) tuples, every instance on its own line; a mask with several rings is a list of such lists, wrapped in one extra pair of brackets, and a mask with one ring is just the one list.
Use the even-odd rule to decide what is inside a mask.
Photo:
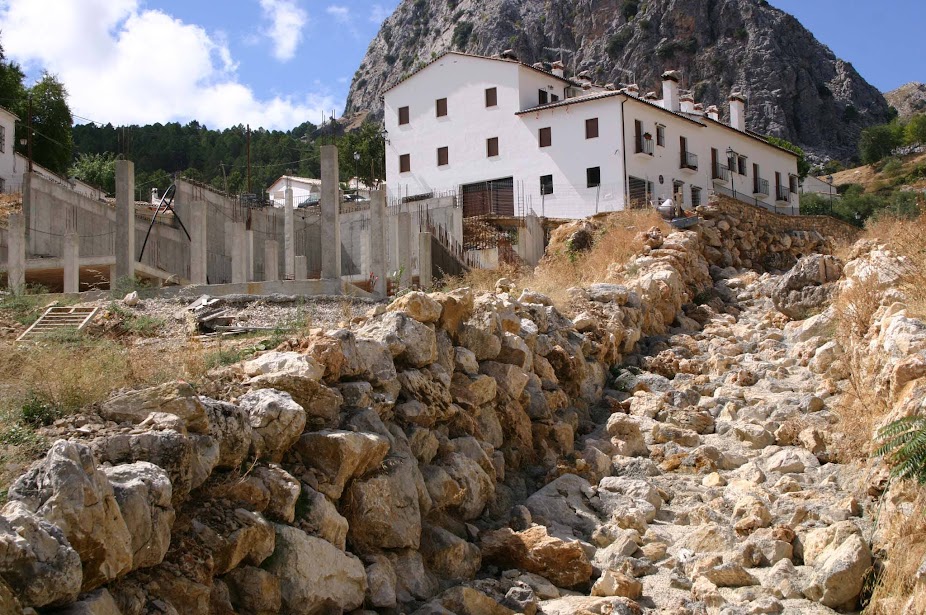
[(347, 612), (363, 604), (367, 588), (363, 563), (294, 527), (276, 526), (276, 549), (264, 568), (280, 579), (285, 613)]

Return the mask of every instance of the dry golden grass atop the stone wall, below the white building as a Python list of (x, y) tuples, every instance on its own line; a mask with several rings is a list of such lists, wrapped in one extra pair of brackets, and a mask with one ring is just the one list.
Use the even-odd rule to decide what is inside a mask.
[(591, 249), (577, 251), (568, 244), (567, 239), (571, 231), (581, 224), (572, 223), (557, 229), (546, 256), (534, 270), (511, 266), (497, 270), (474, 270), (447, 280), (445, 286), (469, 286), (477, 291), (490, 291), (495, 288), (499, 278), (507, 277), (514, 281), (517, 288), (529, 288), (543, 293), (558, 308), (568, 312), (568, 288), (595, 282), (622, 281), (621, 266), (643, 249), (643, 243), (637, 235), (652, 227), (659, 228), (664, 234), (670, 232), (669, 225), (653, 210), (603, 214), (588, 221), (594, 240)]

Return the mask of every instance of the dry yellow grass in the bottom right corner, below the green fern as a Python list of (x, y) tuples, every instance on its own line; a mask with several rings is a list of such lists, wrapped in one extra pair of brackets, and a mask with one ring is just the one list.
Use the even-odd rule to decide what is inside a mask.
[(926, 488), (907, 483), (913, 491), (912, 511), (886, 514), (881, 519), (887, 559), (871, 595), (866, 613), (894, 615), (912, 599), (905, 613), (926, 613), (926, 591), (916, 572), (926, 557)]

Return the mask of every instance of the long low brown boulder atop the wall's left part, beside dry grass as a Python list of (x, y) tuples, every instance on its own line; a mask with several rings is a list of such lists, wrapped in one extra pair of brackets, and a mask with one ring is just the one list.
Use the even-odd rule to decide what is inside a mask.
[(119, 393), (100, 406), (100, 416), (117, 423), (141, 423), (152, 412), (173, 414), (186, 428), (204, 434), (209, 429), (206, 409), (186, 382), (166, 384)]

